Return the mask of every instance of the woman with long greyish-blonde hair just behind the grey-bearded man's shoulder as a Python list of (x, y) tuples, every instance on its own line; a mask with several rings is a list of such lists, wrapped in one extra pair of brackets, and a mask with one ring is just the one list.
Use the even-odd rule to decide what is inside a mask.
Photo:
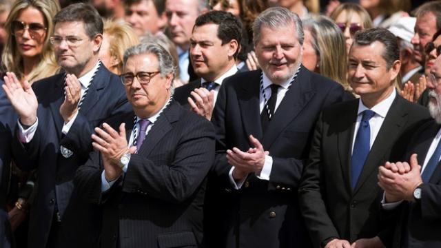
[(310, 71), (337, 81), (350, 92), (345, 38), (338, 26), (327, 17), (314, 16), (303, 21), (303, 28), (302, 64)]

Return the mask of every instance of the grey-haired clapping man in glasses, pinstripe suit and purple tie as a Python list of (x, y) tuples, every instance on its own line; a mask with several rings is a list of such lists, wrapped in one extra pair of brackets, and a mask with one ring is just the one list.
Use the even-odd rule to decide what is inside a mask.
[(102, 247), (201, 247), (214, 130), (172, 99), (172, 61), (157, 44), (125, 52), (134, 113), (96, 127), (97, 152), (76, 174), (84, 198), (103, 208)]

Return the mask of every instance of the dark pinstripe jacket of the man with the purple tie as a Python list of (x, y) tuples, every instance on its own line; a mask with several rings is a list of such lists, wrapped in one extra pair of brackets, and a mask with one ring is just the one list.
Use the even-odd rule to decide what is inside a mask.
[[(109, 121), (127, 123), (134, 114)], [(127, 138), (128, 139), (128, 138)], [(85, 199), (103, 207), (101, 247), (200, 247), (205, 177), (214, 160), (214, 129), (202, 116), (172, 102), (158, 117), (125, 176), (101, 194), (98, 152), (76, 174)]]

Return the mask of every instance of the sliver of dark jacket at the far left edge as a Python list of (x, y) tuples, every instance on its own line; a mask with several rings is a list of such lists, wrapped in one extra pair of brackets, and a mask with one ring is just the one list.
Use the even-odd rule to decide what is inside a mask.
[[(0, 81), (0, 86), (3, 81)], [(9, 225), (6, 200), (10, 181), (12, 132), (17, 114), (10, 105), (3, 88), (0, 88), (0, 247), (11, 247), (12, 234)]]

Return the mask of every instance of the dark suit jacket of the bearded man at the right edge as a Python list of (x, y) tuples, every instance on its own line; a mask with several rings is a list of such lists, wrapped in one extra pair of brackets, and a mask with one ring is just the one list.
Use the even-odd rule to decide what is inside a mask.
[[(441, 125), (435, 121), (420, 126), (411, 141), (406, 143), (409, 147), (404, 161), (409, 161), (411, 154), (416, 153), (418, 164), (422, 165), (440, 128)], [(421, 200), (411, 203), (404, 201), (396, 209), (383, 210), (387, 216), (400, 216), (392, 247), (441, 247), (441, 163), (438, 163), (429, 182), (423, 183), (420, 187)]]

